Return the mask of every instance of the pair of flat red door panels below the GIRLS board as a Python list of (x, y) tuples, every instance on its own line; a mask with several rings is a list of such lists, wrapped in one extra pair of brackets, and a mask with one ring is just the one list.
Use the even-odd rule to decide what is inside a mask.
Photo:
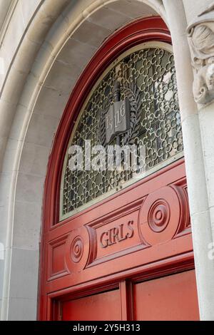
[(61, 301), (59, 319), (194, 321), (199, 319), (195, 292), (194, 270), (146, 282), (129, 282), (129, 288), (123, 287), (122, 282), (118, 289)]

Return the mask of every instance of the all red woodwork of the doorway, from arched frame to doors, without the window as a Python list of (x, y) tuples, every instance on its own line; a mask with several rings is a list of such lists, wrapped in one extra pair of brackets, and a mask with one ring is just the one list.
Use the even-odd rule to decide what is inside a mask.
[[(63, 161), (83, 101), (109, 63), (146, 41), (170, 43), (160, 18), (134, 21), (103, 43), (68, 101), (46, 177), (39, 319), (199, 318), (182, 154), (123, 190), (63, 219), (59, 217)], [(158, 90), (164, 91), (161, 87)], [(177, 127), (179, 115), (175, 114), (169, 138)], [(158, 134), (157, 127), (153, 122), (151, 128)], [(179, 136), (177, 140), (179, 144)], [(173, 150), (178, 148), (174, 144)], [(162, 158), (167, 148), (163, 145)], [(81, 190), (81, 182), (78, 187)], [(73, 203), (72, 197), (69, 203)]]

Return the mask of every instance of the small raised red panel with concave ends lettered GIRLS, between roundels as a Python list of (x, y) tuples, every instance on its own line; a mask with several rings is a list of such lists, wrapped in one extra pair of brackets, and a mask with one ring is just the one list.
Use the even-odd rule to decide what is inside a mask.
[(88, 265), (106, 262), (106, 260), (143, 249), (138, 233), (139, 205), (123, 210), (119, 215), (110, 215), (86, 225), (90, 234), (91, 257)]

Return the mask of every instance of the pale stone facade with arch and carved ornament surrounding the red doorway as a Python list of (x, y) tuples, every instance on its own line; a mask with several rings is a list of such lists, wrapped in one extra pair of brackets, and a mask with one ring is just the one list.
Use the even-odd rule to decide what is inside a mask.
[(1, 1), (1, 319), (36, 319), (46, 167), (78, 76), (113, 31), (159, 15), (173, 41), (200, 318), (214, 320), (213, 8), (210, 0)]

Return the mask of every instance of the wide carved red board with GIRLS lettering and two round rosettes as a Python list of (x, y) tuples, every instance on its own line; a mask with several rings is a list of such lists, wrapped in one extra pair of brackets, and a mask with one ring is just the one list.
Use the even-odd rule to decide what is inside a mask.
[(54, 227), (46, 235), (47, 287), (56, 291), (191, 252), (189, 224), (182, 159)]

